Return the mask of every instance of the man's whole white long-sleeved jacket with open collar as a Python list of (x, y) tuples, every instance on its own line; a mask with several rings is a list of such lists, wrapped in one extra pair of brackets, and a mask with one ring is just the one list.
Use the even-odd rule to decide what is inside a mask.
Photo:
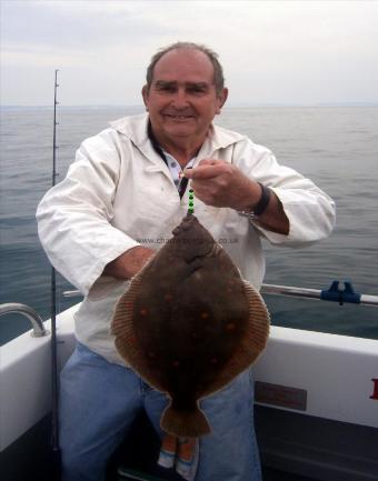
[[(188, 210), (188, 196), (180, 199), (168, 167), (148, 138), (147, 124), (147, 114), (123, 118), (87, 139), (66, 179), (47, 192), (37, 211), (40, 240), (51, 263), (84, 295), (76, 314), (78, 340), (121, 364), (110, 322), (129, 282), (101, 275), (103, 268), (136, 245), (159, 249)], [(332, 200), (310, 180), (279, 166), (265, 147), (212, 127), (195, 166), (203, 158), (235, 163), (269, 186), (289, 219), (290, 232), (282, 236), (259, 228), (232, 209), (195, 201), (200, 222), (256, 288), (265, 273), (261, 236), (275, 244), (300, 247), (330, 233)]]

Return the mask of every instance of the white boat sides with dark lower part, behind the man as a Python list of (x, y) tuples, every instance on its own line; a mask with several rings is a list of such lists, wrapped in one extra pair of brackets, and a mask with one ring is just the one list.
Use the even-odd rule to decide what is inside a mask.
[[(77, 308), (57, 318), (59, 369), (74, 347)], [(50, 335), (24, 333), (0, 355), (7, 453), (51, 410)], [(378, 340), (272, 327), (253, 374), (267, 465), (319, 480), (378, 480)]]

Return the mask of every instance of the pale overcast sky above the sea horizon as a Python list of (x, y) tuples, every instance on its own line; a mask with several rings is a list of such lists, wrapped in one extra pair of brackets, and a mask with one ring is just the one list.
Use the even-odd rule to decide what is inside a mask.
[(139, 106), (178, 40), (218, 52), (230, 106), (378, 104), (378, 0), (0, 0), (2, 104)]

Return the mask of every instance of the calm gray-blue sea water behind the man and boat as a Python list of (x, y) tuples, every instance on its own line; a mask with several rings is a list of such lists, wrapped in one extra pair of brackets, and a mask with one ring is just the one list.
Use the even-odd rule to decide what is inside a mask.
[[(80, 142), (136, 108), (59, 108), (59, 182)], [(217, 123), (269, 147), (278, 161), (310, 178), (337, 204), (329, 239), (306, 249), (265, 242), (266, 283), (327, 289), (350, 280), (356, 291), (378, 294), (378, 108), (228, 108)], [(50, 317), (50, 265), (40, 247), (36, 208), (51, 184), (52, 109), (1, 109), (0, 303), (21, 302)], [(58, 275), (58, 310), (81, 298)], [(272, 323), (378, 339), (378, 308), (266, 295)], [(0, 318), (0, 343), (30, 329), (20, 315)]]

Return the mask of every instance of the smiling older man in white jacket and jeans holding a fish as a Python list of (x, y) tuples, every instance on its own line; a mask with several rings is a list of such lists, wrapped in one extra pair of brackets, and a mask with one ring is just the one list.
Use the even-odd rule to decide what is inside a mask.
[[(78, 347), (61, 374), (66, 481), (103, 480), (109, 455), (140, 409), (163, 434), (159, 420), (167, 399), (125, 365), (110, 322), (129, 279), (186, 214), (188, 179), (199, 220), (223, 240), (257, 289), (265, 271), (261, 237), (298, 247), (332, 229), (335, 208), (327, 194), (279, 166), (268, 149), (212, 123), (227, 94), (211, 50), (182, 42), (160, 50), (142, 89), (148, 113), (120, 119), (87, 139), (67, 178), (38, 208), (49, 259), (84, 295), (76, 315)], [(261, 480), (252, 398), (246, 371), (202, 400), (212, 433), (199, 442), (191, 479)]]

